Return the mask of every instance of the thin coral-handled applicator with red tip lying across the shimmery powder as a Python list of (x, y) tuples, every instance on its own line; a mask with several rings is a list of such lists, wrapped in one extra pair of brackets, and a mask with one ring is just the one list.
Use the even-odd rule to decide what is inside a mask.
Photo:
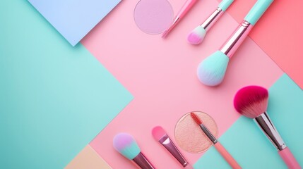
[(222, 144), (220, 144), (218, 139), (216, 139), (213, 136), (213, 134), (211, 134), (211, 132), (208, 130), (208, 128), (205, 125), (203, 125), (201, 119), (198, 118), (198, 116), (195, 113), (191, 113), (191, 118), (193, 118), (194, 121), (197, 123), (197, 125), (199, 125), (201, 127), (201, 130), (204, 132), (204, 134), (206, 134), (208, 139), (210, 139), (210, 141), (213, 142), (213, 146), (215, 146), (215, 149), (217, 149), (219, 151), (219, 153), (221, 154), (221, 156), (223, 158), (225, 158), (227, 163), (229, 163), (230, 166), (234, 169), (241, 168), (241, 166), (237, 163), (237, 161), (235, 161), (234, 158), (232, 158), (232, 155), (230, 155), (228, 153), (228, 151), (224, 148), (224, 146), (222, 146)]

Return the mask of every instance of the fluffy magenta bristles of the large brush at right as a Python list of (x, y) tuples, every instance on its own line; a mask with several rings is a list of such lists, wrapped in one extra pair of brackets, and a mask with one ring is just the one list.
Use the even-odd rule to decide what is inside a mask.
[(268, 91), (259, 86), (243, 87), (234, 96), (234, 108), (248, 118), (256, 118), (266, 112), (267, 104)]

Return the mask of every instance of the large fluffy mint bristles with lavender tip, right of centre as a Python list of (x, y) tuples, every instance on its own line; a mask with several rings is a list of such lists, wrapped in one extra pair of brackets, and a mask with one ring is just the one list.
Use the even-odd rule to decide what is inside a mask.
[(229, 61), (222, 51), (216, 51), (198, 65), (198, 79), (207, 86), (217, 86), (224, 79)]

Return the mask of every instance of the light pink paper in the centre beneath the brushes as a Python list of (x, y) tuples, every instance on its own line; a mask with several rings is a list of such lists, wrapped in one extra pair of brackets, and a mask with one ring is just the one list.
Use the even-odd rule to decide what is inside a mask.
[[(174, 125), (184, 113), (204, 111), (215, 119), (221, 135), (239, 117), (232, 106), (237, 89), (248, 84), (270, 87), (283, 72), (248, 38), (232, 58), (225, 81), (219, 87), (203, 86), (196, 78), (198, 63), (216, 51), (238, 23), (225, 13), (203, 44), (191, 46), (186, 42), (187, 34), (216, 8), (218, 1), (198, 1), (167, 39), (147, 35), (136, 27), (136, 3), (122, 1), (82, 41), (134, 96), (90, 146), (112, 168), (135, 168), (112, 147), (115, 134), (129, 132), (156, 168), (178, 168), (178, 163), (153, 139), (151, 129), (155, 125), (162, 125), (173, 138)], [(178, 11), (184, 1), (171, 3)], [(182, 153), (190, 163), (202, 155)]]

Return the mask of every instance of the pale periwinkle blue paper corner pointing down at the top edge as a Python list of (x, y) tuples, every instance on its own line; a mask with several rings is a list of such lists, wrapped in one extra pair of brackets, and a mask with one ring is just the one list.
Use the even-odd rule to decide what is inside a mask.
[(121, 0), (28, 0), (75, 46)]

